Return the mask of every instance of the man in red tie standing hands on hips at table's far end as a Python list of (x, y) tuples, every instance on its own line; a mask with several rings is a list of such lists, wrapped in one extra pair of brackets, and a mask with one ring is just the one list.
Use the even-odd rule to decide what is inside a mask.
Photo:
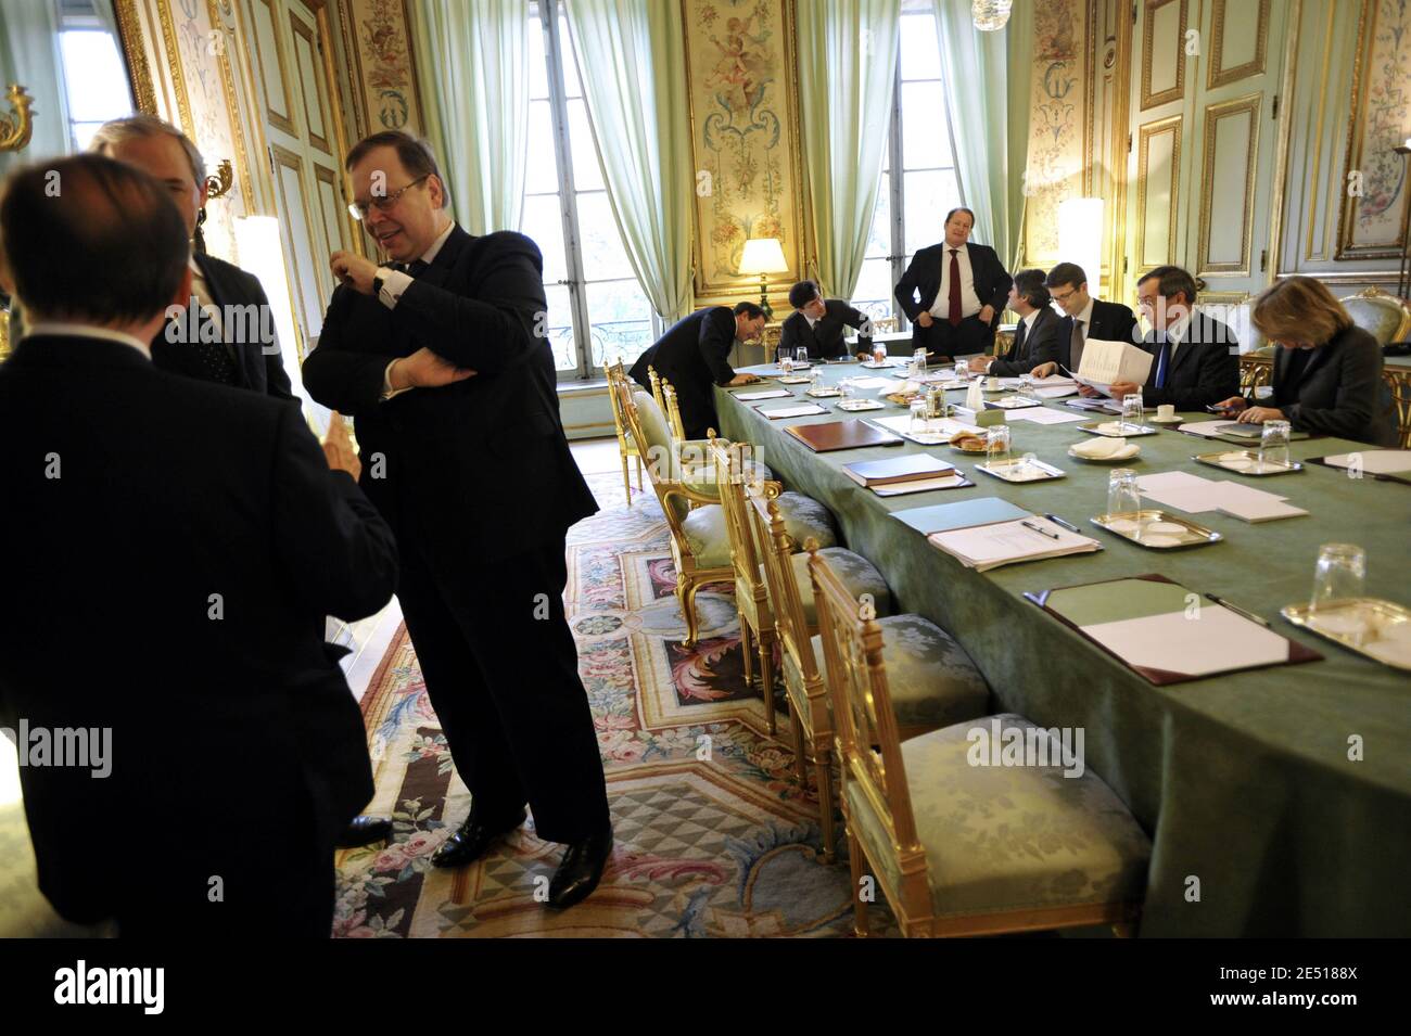
[(913, 255), (893, 292), (914, 324), (912, 344), (941, 362), (989, 351), (1013, 283), (993, 248), (971, 244), (974, 226), (975, 213), (951, 209), (945, 241)]

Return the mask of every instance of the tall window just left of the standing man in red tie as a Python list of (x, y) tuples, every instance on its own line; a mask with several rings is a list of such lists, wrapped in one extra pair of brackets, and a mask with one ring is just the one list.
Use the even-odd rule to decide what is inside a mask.
[(892, 288), (919, 248), (944, 237), (945, 213), (965, 200), (955, 172), (955, 135), (945, 109), (941, 47), (930, 3), (903, 3), (900, 32), (882, 186), (852, 304), (873, 320), (896, 316), (904, 326)]

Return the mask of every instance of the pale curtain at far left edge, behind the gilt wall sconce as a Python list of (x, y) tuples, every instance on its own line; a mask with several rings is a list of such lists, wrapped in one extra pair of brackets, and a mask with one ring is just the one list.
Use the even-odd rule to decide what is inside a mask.
[(0, 0), (0, 94), (10, 83), (20, 83), (34, 97), (34, 135), (23, 151), (0, 154), (0, 176), (24, 162), (69, 152), (62, 69), (55, 6), (48, 0)]

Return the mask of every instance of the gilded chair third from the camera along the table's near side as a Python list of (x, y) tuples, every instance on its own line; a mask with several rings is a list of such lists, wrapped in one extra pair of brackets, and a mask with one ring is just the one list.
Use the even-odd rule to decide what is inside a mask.
[[(765, 696), (765, 722), (769, 734), (777, 732), (775, 722), (775, 617), (769, 606), (765, 585), (765, 569), (759, 544), (749, 520), (749, 505), (745, 502), (745, 485), (758, 483), (759, 478), (749, 467), (749, 443), (729, 443), (710, 437), (713, 468), (718, 483), (721, 507), (725, 512), (725, 529), (729, 533), (729, 560), (735, 572), (735, 610), (739, 613), (741, 651), (745, 657), (745, 682), (753, 685), (751, 648), (758, 653), (761, 689)], [(776, 483), (777, 485), (777, 483)], [(796, 545), (797, 550), (797, 545)], [(845, 547), (824, 547), (823, 553), (834, 558), (834, 564), (848, 578), (848, 585), (856, 593), (868, 593), (889, 609), (892, 592), (882, 574), (861, 554)], [(813, 608), (813, 585), (800, 551), (793, 555), (794, 582), (803, 598), (804, 610)], [(813, 622), (811, 619), (809, 620)]]

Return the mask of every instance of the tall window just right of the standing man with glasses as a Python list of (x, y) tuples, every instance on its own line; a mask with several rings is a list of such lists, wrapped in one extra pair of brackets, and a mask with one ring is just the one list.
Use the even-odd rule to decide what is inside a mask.
[(529, 4), (529, 169), (521, 230), (543, 251), (560, 379), (632, 361), (658, 319), (632, 272), (598, 166), (562, 0)]

